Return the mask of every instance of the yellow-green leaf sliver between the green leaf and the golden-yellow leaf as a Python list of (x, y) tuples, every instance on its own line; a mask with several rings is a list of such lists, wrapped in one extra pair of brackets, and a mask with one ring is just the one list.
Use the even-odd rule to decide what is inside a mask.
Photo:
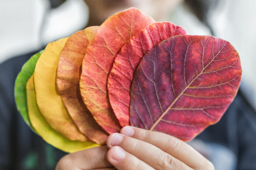
[(51, 128), (51, 126), (45, 121), (45, 118), (43, 118), (36, 104), (36, 93), (33, 77), (34, 75), (31, 76), (28, 83), (26, 84), (26, 97), (28, 101), (29, 119), (31, 120), (33, 127), (35, 127), (36, 132), (38, 132), (38, 134), (47, 143), (65, 152), (76, 152), (83, 149), (99, 146), (88, 141), (72, 141)]

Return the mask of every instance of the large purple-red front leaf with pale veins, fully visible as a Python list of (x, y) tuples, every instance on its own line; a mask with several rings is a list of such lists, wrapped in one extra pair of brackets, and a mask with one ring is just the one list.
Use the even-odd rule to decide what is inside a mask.
[(192, 140), (219, 121), (237, 94), (237, 51), (212, 36), (174, 36), (142, 58), (131, 86), (132, 126)]

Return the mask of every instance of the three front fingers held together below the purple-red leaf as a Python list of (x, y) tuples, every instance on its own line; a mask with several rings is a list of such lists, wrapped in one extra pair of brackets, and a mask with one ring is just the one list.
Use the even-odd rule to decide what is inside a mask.
[(118, 170), (214, 170), (185, 142), (160, 132), (126, 126), (107, 140), (107, 159)]

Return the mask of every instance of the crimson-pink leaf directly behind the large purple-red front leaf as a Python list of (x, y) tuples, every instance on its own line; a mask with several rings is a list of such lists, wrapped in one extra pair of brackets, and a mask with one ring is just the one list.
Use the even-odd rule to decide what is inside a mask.
[(109, 101), (121, 126), (129, 125), (132, 78), (141, 58), (159, 42), (186, 30), (170, 22), (153, 23), (135, 34), (115, 57), (107, 80)]

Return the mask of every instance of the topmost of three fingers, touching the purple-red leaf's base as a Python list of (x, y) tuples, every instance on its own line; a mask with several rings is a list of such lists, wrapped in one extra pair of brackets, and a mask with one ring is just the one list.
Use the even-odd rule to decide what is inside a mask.
[(179, 140), (168, 134), (153, 132), (150, 130), (139, 129), (136, 127), (126, 126), (120, 131), (125, 136), (130, 136), (146, 143), (150, 143), (161, 150), (167, 152), (181, 162), (184, 162), (189, 167), (201, 170), (214, 170), (212, 163), (202, 156), (199, 152), (193, 149), (184, 141)]

